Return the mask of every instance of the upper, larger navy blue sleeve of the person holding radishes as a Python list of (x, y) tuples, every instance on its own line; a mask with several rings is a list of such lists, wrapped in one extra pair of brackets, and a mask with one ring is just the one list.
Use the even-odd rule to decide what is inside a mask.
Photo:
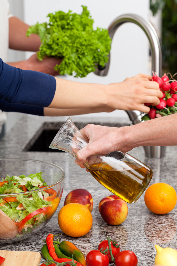
[(48, 107), (55, 90), (56, 80), (53, 76), (22, 70), (0, 59), (0, 99), (9, 103)]

